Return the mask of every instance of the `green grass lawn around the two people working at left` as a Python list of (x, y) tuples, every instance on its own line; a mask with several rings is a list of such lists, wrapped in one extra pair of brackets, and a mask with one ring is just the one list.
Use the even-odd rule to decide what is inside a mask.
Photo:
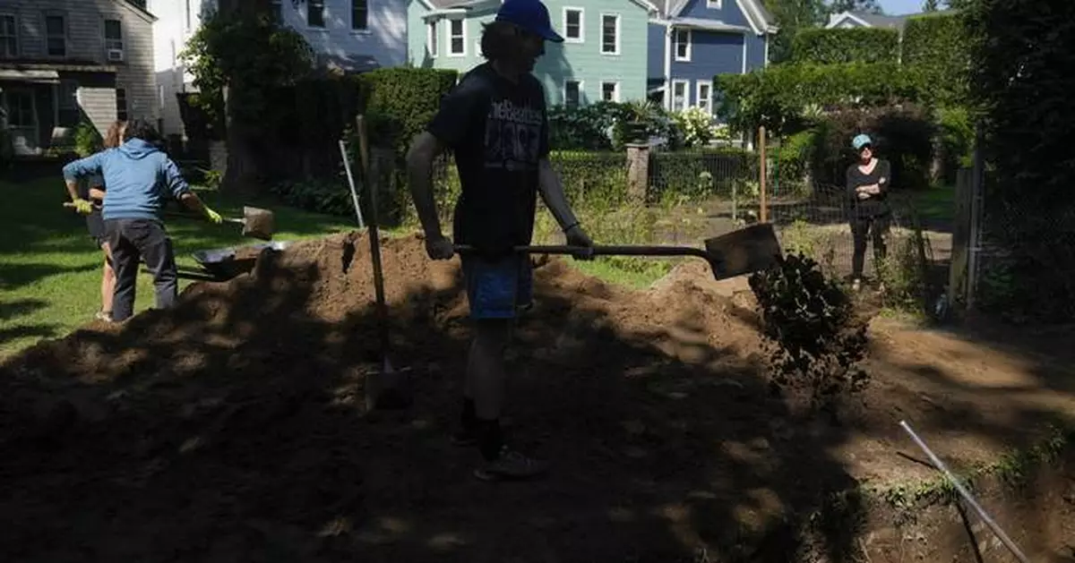
[[(343, 189), (343, 187), (341, 187)], [(231, 201), (199, 189), (205, 202), (225, 216), (242, 216), (244, 204), (273, 210), (275, 241), (325, 236), (355, 228), (345, 217), (330, 217), (266, 201)], [(63, 336), (89, 321), (100, 308), (103, 256), (89, 239), (85, 219), (62, 207), (63, 181), (22, 184), (0, 182), (0, 358), (42, 337)], [(212, 225), (197, 219), (171, 219), (168, 230), (180, 269), (197, 269), (194, 250), (255, 244), (234, 223)], [(191, 282), (181, 279), (180, 289)], [(139, 275), (137, 311), (153, 305), (153, 280)]]

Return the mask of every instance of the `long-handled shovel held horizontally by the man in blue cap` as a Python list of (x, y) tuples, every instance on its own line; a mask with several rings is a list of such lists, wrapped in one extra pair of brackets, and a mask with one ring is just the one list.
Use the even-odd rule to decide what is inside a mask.
[[(773, 226), (768, 222), (707, 239), (704, 249), (692, 246), (516, 246), (514, 250), (530, 255), (692, 256), (705, 259), (713, 270), (713, 277), (718, 280), (768, 270), (777, 263), (783, 254)], [(458, 245), (456, 251), (463, 254), (474, 249)]]

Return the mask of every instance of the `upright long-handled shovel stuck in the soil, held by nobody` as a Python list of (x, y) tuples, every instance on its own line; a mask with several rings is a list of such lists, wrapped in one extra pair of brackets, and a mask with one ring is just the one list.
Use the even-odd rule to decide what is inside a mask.
[[(370, 236), (370, 255), (373, 258), (373, 290), (377, 299), (377, 336), (381, 341), (381, 371), (366, 376), (366, 409), (400, 409), (411, 406), (411, 381), (407, 370), (397, 371), (388, 359), (391, 353), (391, 340), (388, 334), (388, 306), (385, 304), (385, 277), (381, 268), (381, 235), (377, 231), (377, 187), (373, 174), (370, 173), (370, 143), (366, 136), (366, 119), (359, 115), (358, 154), (362, 167), (362, 179), (370, 192), (370, 216), (367, 226)], [(358, 193), (355, 191), (355, 181), (350, 175), (350, 167), (345, 167), (347, 182), (350, 186), (352, 201), (355, 214), (360, 225), (362, 212), (358, 205)]]

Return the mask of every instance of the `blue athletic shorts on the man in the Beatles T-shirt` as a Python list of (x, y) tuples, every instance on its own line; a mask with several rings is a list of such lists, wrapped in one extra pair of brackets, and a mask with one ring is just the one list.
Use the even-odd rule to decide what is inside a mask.
[(463, 255), (461, 260), (471, 318), (511, 319), (518, 307), (530, 305), (533, 268), (527, 255), (512, 255), (497, 261)]

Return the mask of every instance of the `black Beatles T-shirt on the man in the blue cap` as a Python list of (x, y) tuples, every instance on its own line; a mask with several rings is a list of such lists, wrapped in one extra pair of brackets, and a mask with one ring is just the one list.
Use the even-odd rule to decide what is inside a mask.
[(548, 156), (545, 89), (531, 74), (518, 84), (488, 62), (441, 101), (428, 130), (454, 154), (462, 193), (453, 237), (485, 254), (533, 236), (538, 162)]

